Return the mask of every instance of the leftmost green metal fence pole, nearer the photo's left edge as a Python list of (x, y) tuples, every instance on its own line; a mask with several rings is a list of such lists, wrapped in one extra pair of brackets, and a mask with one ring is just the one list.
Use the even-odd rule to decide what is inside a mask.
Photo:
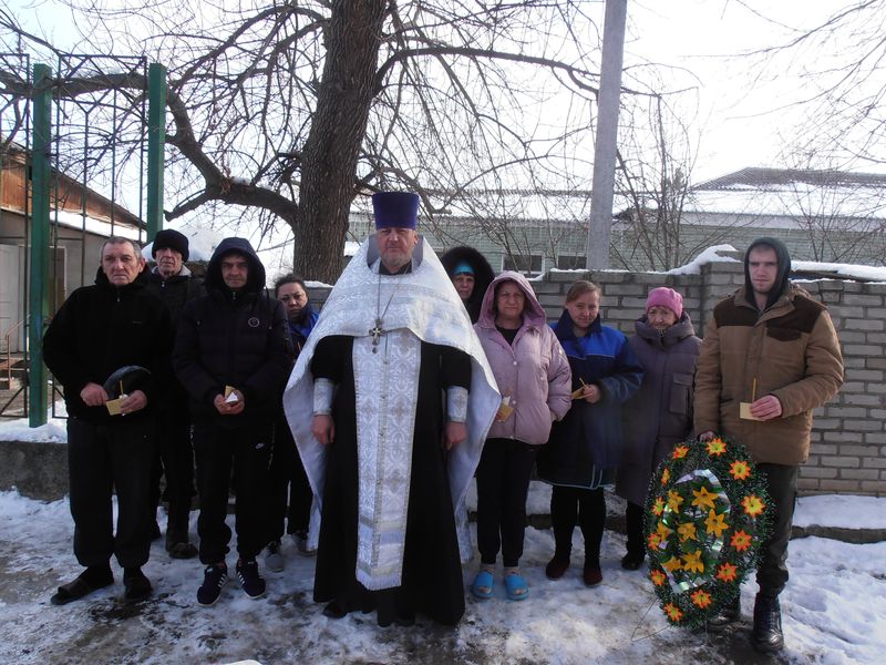
[(31, 269), (29, 284), (28, 350), (30, 378), (28, 419), (31, 427), (47, 423), (47, 370), (43, 366), (43, 325), (49, 316), (49, 197), (52, 126), (52, 70), (34, 64), (31, 141)]

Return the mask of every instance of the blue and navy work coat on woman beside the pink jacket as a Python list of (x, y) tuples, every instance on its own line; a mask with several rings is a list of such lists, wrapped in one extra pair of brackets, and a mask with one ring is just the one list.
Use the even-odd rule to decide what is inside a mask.
[(553, 484), (589, 488), (595, 470), (621, 463), (621, 405), (640, 387), (643, 372), (627, 338), (600, 318), (580, 338), (573, 331), (568, 309), (554, 325), (573, 370), (571, 390), (583, 381), (594, 383), (601, 398), (594, 405), (574, 400), (563, 422), (554, 426), (537, 460), (538, 477)]

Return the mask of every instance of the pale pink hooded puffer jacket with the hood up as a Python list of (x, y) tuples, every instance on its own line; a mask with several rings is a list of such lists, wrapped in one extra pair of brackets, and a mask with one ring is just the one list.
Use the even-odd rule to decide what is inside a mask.
[[(495, 327), (495, 287), (503, 282), (514, 282), (526, 297), (523, 325), (513, 345)], [(496, 419), (492, 423), (487, 438), (545, 443), (552, 421), (559, 420), (569, 410), (569, 364), (547, 326), (545, 310), (523, 275), (507, 270), (493, 279), (484, 294), (474, 330), (498, 391), (503, 397), (511, 397), (509, 406), (514, 408), (507, 419)]]

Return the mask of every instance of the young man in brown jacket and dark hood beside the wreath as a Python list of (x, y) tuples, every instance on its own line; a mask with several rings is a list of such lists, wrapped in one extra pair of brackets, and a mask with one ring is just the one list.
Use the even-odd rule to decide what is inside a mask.
[[(720, 301), (704, 329), (696, 374), (696, 431), (734, 437), (766, 477), (775, 511), (761, 546), (751, 642), (783, 647), (779, 594), (787, 583), (787, 541), (800, 464), (806, 461), (812, 411), (843, 385), (843, 356), (824, 305), (789, 280), (791, 256), (775, 238), (758, 238), (744, 255), (744, 286)], [(740, 418), (751, 402), (753, 419)], [(739, 618), (741, 598), (708, 623), (717, 631)]]

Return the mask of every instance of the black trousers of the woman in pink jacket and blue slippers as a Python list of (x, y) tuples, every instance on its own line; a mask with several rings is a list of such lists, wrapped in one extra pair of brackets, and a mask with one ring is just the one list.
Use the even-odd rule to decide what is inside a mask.
[(487, 439), (477, 467), (477, 546), (480, 561), (494, 565), (502, 550), (505, 566), (523, 556), (526, 494), (537, 446), (514, 439)]

